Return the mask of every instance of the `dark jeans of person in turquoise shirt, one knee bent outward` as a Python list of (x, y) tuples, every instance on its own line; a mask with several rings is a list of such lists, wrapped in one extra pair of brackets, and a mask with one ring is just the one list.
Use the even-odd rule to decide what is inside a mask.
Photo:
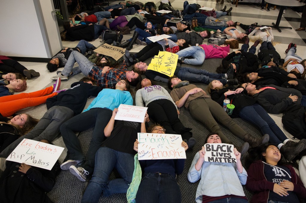
[[(106, 108), (93, 108), (67, 120), (60, 127), (64, 143), (68, 149), (66, 160), (84, 161), (80, 167), (92, 174), (95, 166), (95, 154), (105, 140), (104, 128), (110, 121), (113, 111)], [(75, 132), (82, 132), (95, 127), (87, 155), (82, 152), (79, 139)]]

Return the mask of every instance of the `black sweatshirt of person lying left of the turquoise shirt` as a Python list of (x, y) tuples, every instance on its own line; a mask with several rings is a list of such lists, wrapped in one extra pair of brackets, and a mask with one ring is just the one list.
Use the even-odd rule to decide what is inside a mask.
[(96, 97), (102, 90), (101, 87), (92, 86), (84, 82), (75, 82), (71, 87), (58, 95), (47, 99), (47, 109), (52, 106), (65, 106), (74, 111), (77, 115), (81, 113), (90, 96)]

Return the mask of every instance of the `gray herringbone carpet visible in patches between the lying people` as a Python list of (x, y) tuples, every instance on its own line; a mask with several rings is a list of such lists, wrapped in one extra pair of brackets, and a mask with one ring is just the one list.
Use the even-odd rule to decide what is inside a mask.
[[(221, 63), (222, 59), (208, 59), (205, 60), (202, 66), (196, 66), (198, 69), (206, 69), (207, 71), (210, 72), (215, 72), (215, 68)], [(147, 60), (145, 62), (150, 62), (151, 60)], [(183, 64), (182, 66), (187, 66)], [(129, 68), (131, 69), (131, 67)], [(79, 77), (79, 76), (74, 76), (74, 77)], [(81, 78), (81, 77), (80, 77)], [(69, 78), (69, 83), (71, 84), (72, 80)], [(165, 87), (166, 90), (170, 92), (170, 90), (167, 88), (167, 84), (164, 83), (157, 83), (158, 85), (161, 85)], [(202, 88), (203, 90), (206, 91), (207, 85), (205, 84), (196, 84), (198, 87)], [(135, 102), (134, 102), (135, 103)], [(209, 130), (207, 127), (203, 126), (202, 123), (196, 121), (195, 119), (192, 118), (190, 113), (188, 112), (185, 107), (182, 107), (180, 109), (180, 119), (182, 123), (186, 127), (192, 127), (192, 133), (193, 137), (196, 138), (197, 144), (193, 148), (192, 151), (187, 152), (187, 159), (185, 162), (185, 168), (184, 171), (181, 175), (177, 176), (177, 181), (180, 185), (181, 188), (181, 193), (182, 193), (182, 202), (183, 203), (189, 203), (189, 202), (195, 202), (195, 196), (196, 196), (196, 189), (198, 186), (198, 182), (196, 183), (190, 183), (187, 179), (187, 173), (189, 170), (189, 167), (191, 165), (192, 159), (194, 155), (200, 150), (201, 146), (204, 144), (204, 140), (206, 135), (209, 133)], [(205, 116), (205, 115), (203, 115)], [(239, 126), (241, 126), (244, 130), (246, 130), (249, 134), (253, 135), (254, 137), (259, 137), (261, 136), (261, 133), (259, 130), (253, 126), (251, 123), (248, 123), (240, 118), (235, 118), (234, 119)], [(150, 121), (152, 122), (152, 121)], [(241, 146), (243, 144), (243, 141), (240, 140), (239, 138), (235, 137), (226, 127), (222, 126), (220, 124), (220, 127), (224, 134), (229, 137), (229, 139), (233, 142), (233, 144), (237, 146)], [(79, 134), (79, 140), (82, 145), (84, 153), (87, 152), (88, 147), (89, 147), (89, 142), (91, 140), (91, 135), (92, 135), (92, 129), (89, 129), (87, 131), (81, 132)], [(244, 156), (245, 157), (245, 156)], [(242, 159), (242, 162), (244, 163), (244, 158)], [(110, 179), (113, 179), (116, 177), (116, 173), (112, 173)], [(56, 180), (56, 184), (53, 188), (52, 191), (48, 193), (48, 196), (50, 199), (54, 202), (80, 202), (82, 198), (82, 192), (85, 188), (84, 182), (79, 181), (75, 176), (73, 176), (69, 170), (68, 171), (62, 171)], [(252, 194), (244, 189), (245, 195), (247, 198), (250, 200), (252, 197)], [(123, 203), (126, 202), (126, 194), (115, 194), (111, 195), (108, 198), (103, 197), (101, 195), (99, 202), (103, 203)]]

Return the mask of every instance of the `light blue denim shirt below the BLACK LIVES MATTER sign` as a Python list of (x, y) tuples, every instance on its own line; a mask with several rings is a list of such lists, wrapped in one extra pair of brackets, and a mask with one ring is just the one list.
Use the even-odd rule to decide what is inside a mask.
[(203, 162), (202, 168), (197, 171), (196, 162), (200, 158), (196, 153), (188, 172), (188, 180), (192, 183), (200, 180), (196, 190), (196, 202), (202, 202), (202, 195), (219, 197), (224, 195), (245, 196), (242, 185), (247, 181), (247, 172), (242, 173), (233, 163)]

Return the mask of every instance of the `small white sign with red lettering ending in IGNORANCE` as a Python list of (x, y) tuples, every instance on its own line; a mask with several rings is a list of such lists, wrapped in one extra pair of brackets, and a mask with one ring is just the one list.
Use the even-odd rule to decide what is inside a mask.
[(142, 123), (144, 122), (144, 116), (146, 115), (147, 109), (147, 107), (142, 106), (120, 104), (115, 120), (126, 120)]

